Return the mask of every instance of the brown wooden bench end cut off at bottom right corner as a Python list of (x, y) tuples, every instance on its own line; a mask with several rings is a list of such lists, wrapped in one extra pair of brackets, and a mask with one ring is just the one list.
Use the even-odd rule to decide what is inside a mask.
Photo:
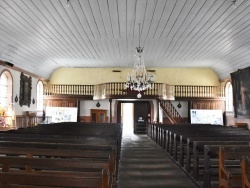
[(250, 160), (248, 156), (241, 159), (242, 188), (250, 188)]

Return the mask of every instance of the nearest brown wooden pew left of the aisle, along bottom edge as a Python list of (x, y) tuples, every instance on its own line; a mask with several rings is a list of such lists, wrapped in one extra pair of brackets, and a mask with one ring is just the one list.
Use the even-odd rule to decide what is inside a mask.
[(46, 175), (30, 173), (0, 172), (1, 188), (110, 188), (108, 172), (104, 169), (102, 177), (79, 177), (70, 175)]

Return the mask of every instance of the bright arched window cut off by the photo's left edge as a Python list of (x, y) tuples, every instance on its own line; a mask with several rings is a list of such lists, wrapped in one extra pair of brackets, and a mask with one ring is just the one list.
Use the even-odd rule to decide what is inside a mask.
[(9, 71), (0, 75), (0, 106), (7, 109), (12, 104), (12, 76)]

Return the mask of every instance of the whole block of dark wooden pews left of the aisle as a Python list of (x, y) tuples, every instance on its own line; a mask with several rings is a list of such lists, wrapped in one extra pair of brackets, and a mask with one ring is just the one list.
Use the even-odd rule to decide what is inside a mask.
[(0, 133), (1, 187), (115, 187), (122, 127), (105, 126), (64, 123)]

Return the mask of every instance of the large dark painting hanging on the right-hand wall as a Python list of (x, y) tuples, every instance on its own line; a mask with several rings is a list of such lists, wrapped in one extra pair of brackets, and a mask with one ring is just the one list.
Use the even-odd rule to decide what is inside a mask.
[(234, 114), (236, 118), (250, 118), (250, 67), (231, 73)]

